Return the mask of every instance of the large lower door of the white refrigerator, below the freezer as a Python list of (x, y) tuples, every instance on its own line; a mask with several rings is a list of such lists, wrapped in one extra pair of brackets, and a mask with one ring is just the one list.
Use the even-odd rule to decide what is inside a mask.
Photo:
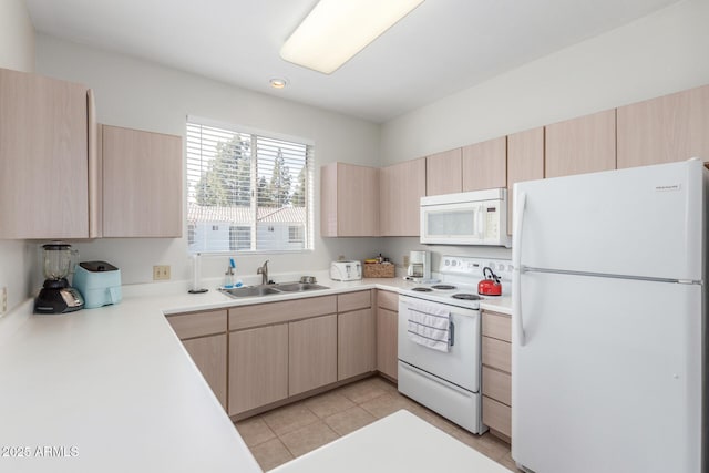
[(701, 471), (700, 285), (525, 273), (521, 296), (517, 463), (543, 473)]

